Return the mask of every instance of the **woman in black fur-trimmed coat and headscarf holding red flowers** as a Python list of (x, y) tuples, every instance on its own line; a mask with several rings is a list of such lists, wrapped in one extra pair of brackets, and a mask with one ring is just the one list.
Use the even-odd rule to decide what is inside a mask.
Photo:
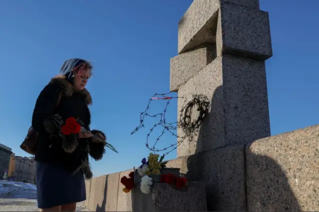
[[(92, 178), (88, 155), (100, 160), (105, 153), (105, 134), (89, 127), (92, 100), (85, 86), (91, 72), (89, 61), (66, 60), (37, 98), (32, 127), (39, 133), (36, 187), (42, 211), (75, 211), (86, 200), (84, 175)], [(63, 129), (67, 124), (73, 130)]]

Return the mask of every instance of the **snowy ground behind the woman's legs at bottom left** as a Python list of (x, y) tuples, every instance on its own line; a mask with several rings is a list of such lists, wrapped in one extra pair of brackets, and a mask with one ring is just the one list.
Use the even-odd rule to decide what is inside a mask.
[[(0, 212), (39, 211), (36, 204), (36, 187), (29, 183), (0, 181)], [(83, 203), (77, 204), (78, 212), (89, 212)]]

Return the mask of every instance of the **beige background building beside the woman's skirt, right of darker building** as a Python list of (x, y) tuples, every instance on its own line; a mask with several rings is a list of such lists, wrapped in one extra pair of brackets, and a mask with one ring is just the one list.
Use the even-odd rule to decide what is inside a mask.
[(11, 155), (8, 180), (34, 183), (35, 182), (35, 161), (34, 157), (21, 157)]

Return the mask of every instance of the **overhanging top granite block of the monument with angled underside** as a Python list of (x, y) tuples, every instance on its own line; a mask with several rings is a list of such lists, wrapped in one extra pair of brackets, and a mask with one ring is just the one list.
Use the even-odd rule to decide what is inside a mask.
[(178, 24), (178, 53), (216, 44), (217, 56), (272, 56), (268, 12), (258, 0), (194, 0)]

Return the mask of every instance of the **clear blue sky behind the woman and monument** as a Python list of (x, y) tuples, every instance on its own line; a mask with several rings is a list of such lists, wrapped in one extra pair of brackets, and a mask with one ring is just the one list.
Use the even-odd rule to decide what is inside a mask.
[[(169, 91), (169, 58), (177, 55), (177, 23), (192, 0), (1, 0), (0, 143), (16, 155), (35, 100), (63, 61), (95, 61), (88, 83), (92, 128), (108, 150), (92, 161), (95, 176), (138, 166), (149, 154), (146, 131), (131, 135), (154, 93)], [(272, 135), (318, 124), (319, 1), (260, 0), (270, 14), (274, 56), (267, 60)], [(161, 111), (163, 102), (156, 102)], [(176, 102), (167, 116), (177, 117)], [(172, 136), (161, 142), (175, 142)], [(167, 156), (175, 158), (176, 151)]]

